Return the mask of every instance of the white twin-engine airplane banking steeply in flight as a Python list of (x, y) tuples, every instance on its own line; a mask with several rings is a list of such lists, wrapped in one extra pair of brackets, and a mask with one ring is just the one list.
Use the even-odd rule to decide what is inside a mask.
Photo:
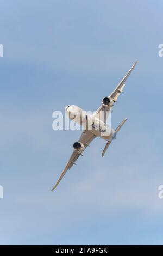
[(60, 178), (58, 179), (57, 183), (51, 191), (55, 190), (61, 179), (66, 174), (67, 170), (69, 170), (73, 165), (76, 165), (78, 157), (82, 156), (83, 151), (86, 149), (86, 147), (89, 147), (90, 143), (96, 137), (101, 137), (102, 139), (105, 139), (107, 141), (105, 148), (102, 152), (102, 156), (104, 156), (106, 150), (109, 148), (109, 145), (116, 138), (117, 132), (120, 131), (123, 124), (127, 121), (127, 118), (124, 118), (121, 124), (118, 125), (115, 130), (111, 126), (108, 126), (106, 124), (106, 120), (111, 113), (111, 109), (114, 106), (114, 103), (117, 102), (118, 96), (123, 93), (126, 80), (135, 68), (136, 64), (137, 60), (135, 61), (133, 66), (131, 66), (131, 69), (128, 71), (126, 76), (124, 76), (121, 82), (118, 83), (117, 87), (109, 95), (109, 97), (103, 98), (102, 105), (93, 114), (87, 114), (87, 112), (83, 111), (82, 108), (75, 105), (68, 105), (65, 108), (65, 112), (68, 117), (71, 120), (77, 122), (78, 124), (83, 125), (84, 130), (79, 138), (79, 141), (73, 143), (73, 153), (68, 163), (66, 164), (65, 169), (60, 175)]

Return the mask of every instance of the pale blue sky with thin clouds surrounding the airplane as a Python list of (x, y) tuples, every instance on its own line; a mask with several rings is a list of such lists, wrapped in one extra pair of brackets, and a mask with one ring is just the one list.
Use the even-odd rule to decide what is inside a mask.
[[(163, 244), (162, 1), (0, 1), (1, 244)], [(57, 190), (80, 131), (52, 113), (95, 110), (138, 59), (112, 125)]]

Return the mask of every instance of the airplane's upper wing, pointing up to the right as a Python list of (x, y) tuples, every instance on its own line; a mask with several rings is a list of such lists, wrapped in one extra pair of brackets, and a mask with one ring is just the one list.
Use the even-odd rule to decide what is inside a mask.
[[(114, 89), (114, 91), (109, 95), (109, 97), (114, 101), (116, 102), (117, 99), (118, 99), (118, 96), (123, 93), (123, 88), (125, 86), (125, 83), (126, 83), (126, 80), (127, 78), (129, 77), (129, 75), (131, 74), (131, 72), (133, 71), (133, 69), (135, 68), (137, 64), (137, 60), (136, 62), (134, 63), (133, 66), (131, 66), (131, 69), (128, 71), (128, 73), (126, 74), (126, 76), (123, 77), (123, 79), (121, 80), (120, 83), (118, 83), (117, 87)], [(110, 109), (111, 110), (111, 109)], [(101, 107), (98, 108), (97, 110), (97, 114), (100, 112), (100, 111), (107, 111), (106, 107), (104, 107), (103, 105), (101, 105)]]

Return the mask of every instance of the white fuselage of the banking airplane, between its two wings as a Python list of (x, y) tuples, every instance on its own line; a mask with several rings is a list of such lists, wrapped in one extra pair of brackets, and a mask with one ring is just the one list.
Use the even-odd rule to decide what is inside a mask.
[(106, 125), (103, 120), (99, 119), (96, 112), (90, 114), (76, 105), (69, 105), (65, 110), (68, 117), (79, 125), (82, 125), (84, 130), (89, 130), (97, 137), (101, 137), (106, 141), (114, 138), (114, 129), (111, 128), (111, 125)]

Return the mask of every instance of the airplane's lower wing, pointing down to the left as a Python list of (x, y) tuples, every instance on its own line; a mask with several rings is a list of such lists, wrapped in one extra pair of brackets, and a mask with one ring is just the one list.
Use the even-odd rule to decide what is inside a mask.
[[(87, 146), (89, 146), (89, 144), (93, 141), (93, 139), (95, 137), (96, 137), (96, 135), (93, 135), (92, 132), (90, 132), (90, 131), (83, 131), (82, 135), (80, 136), (79, 142), (82, 142), (84, 147), (86, 148)], [(77, 159), (78, 159), (78, 157), (80, 155), (82, 155), (82, 154), (78, 153), (76, 150), (73, 150), (73, 153), (72, 153), (68, 163), (66, 164), (66, 167), (65, 167), (64, 171), (60, 175), (60, 178), (58, 179), (57, 183), (55, 184), (55, 186), (52, 188), (51, 191), (55, 190), (55, 188), (58, 186), (58, 184), (61, 181), (61, 179), (66, 174), (67, 170), (69, 170), (73, 166), (73, 164), (76, 165), (76, 161), (77, 161)]]

